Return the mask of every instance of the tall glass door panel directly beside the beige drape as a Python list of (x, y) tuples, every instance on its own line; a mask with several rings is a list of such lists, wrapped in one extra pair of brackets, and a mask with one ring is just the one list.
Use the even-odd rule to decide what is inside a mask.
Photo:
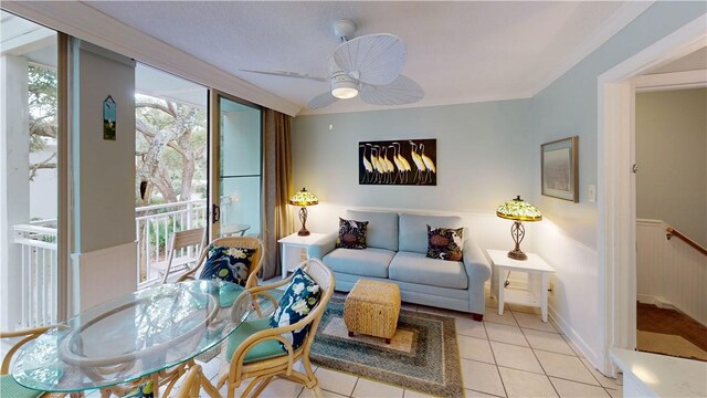
[(262, 109), (211, 95), (211, 238), (260, 235)]

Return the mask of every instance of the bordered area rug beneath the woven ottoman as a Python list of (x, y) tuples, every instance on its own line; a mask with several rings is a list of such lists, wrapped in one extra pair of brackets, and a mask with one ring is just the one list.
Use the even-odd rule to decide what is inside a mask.
[(401, 311), (391, 344), (348, 336), (344, 300), (331, 298), (309, 357), (317, 365), (439, 396), (464, 395), (454, 318)]

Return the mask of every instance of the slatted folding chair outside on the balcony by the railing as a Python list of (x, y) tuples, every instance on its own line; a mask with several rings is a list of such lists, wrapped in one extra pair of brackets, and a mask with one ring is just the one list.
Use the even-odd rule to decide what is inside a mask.
[(157, 270), (162, 276), (162, 283), (167, 283), (171, 273), (197, 268), (197, 264), (199, 264), (197, 260), (205, 241), (205, 228), (173, 232), (169, 237), (169, 243), (167, 244), (166, 260), (152, 264), (152, 269)]

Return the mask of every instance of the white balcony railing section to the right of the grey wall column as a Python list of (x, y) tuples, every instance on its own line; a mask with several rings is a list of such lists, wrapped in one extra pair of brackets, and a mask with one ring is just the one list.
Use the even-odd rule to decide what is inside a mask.
[(207, 226), (207, 200), (146, 206), (135, 209), (135, 216), (137, 280), (140, 287), (160, 277), (152, 265), (165, 261), (172, 232)]

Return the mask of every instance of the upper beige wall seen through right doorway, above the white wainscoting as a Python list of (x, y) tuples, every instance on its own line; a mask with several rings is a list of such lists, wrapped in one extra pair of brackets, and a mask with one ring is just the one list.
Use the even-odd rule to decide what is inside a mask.
[(707, 248), (707, 88), (636, 95), (636, 217)]

